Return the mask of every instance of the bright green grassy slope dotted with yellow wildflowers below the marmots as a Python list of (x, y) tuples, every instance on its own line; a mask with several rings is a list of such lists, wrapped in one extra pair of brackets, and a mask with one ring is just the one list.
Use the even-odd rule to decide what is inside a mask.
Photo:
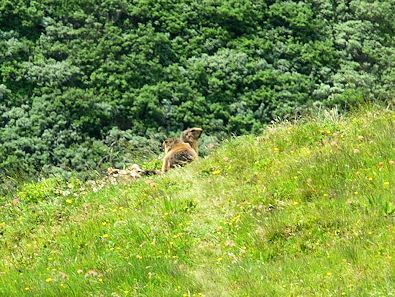
[(128, 185), (27, 184), (0, 295), (389, 296), (394, 148), (394, 112), (327, 113)]

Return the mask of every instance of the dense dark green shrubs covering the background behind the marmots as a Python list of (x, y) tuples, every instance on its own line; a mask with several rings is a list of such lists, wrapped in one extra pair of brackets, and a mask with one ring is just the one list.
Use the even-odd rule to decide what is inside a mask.
[(0, 170), (120, 166), (190, 126), (238, 135), (309, 106), (385, 101), (394, 12), (391, 0), (1, 0)]

